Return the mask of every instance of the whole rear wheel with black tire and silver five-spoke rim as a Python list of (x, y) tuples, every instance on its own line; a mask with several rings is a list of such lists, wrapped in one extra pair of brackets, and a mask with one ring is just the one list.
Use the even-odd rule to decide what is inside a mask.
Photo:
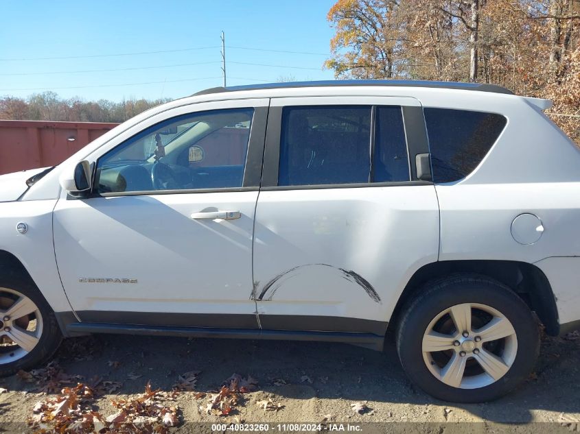
[(507, 394), (533, 370), (540, 348), (529, 307), (500, 282), (452, 276), (430, 282), (397, 328), (411, 380), (443, 400), (483, 402)]

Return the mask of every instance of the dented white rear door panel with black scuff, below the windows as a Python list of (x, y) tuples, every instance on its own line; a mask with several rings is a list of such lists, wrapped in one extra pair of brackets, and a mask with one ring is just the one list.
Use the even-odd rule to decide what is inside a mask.
[(263, 191), (254, 245), (260, 323), (381, 329), (354, 320), (362, 319), (384, 332), (399, 293), (437, 261), (438, 248), (433, 186)]

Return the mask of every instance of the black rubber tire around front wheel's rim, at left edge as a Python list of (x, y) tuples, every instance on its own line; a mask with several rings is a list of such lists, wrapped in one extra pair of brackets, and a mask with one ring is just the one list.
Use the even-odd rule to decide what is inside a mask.
[(34, 285), (32, 279), (29, 276), (23, 276), (14, 269), (7, 270), (6, 267), (1, 267), (0, 271), (2, 272), (0, 274), (0, 288), (11, 289), (30, 298), (36, 304), (38, 311), (40, 311), (43, 321), (43, 331), (36, 346), (24, 357), (0, 364), (0, 377), (5, 377), (16, 374), (19, 370), (30, 370), (48, 361), (58, 349), (62, 341), (62, 333), (54, 311), (52, 311), (43, 295)]

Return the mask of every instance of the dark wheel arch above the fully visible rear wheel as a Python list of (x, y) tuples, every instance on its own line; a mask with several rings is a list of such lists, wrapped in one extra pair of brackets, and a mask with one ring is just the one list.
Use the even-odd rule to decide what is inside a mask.
[(421, 291), (426, 282), (457, 273), (480, 274), (507, 285), (526, 302), (531, 311), (536, 313), (546, 327), (548, 335), (558, 335), (556, 300), (544, 272), (531, 263), (494, 260), (439, 261), (419, 268), (411, 276), (397, 300), (389, 321), (389, 329), (393, 330), (397, 325), (406, 302)]

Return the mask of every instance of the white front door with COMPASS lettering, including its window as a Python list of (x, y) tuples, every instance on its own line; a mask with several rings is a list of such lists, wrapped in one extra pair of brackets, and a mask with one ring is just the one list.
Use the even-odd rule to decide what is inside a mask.
[(80, 320), (257, 328), (254, 170), (267, 104), (161, 114), (95, 158), (91, 197), (54, 210), (58, 269)]

